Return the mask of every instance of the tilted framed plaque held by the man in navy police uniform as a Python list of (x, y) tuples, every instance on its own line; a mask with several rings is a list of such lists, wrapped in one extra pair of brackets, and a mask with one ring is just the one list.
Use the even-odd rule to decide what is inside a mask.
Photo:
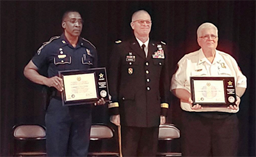
[(61, 92), (63, 106), (109, 101), (106, 68), (59, 71), (64, 90)]

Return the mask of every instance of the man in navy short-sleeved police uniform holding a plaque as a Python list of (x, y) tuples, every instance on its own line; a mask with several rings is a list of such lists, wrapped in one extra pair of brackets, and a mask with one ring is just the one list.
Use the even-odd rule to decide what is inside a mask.
[[(31, 81), (51, 87), (53, 93), (45, 115), (47, 128), (46, 148), (48, 157), (85, 157), (90, 141), (92, 105), (63, 107), (60, 92), (63, 80), (58, 71), (86, 70), (97, 67), (97, 51), (90, 41), (80, 37), (83, 19), (77, 11), (67, 11), (61, 26), (64, 33), (54, 36), (38, 49), (24, 69)], [(38, 73), (48, 67), (48, 77)], [(96, 104), (104, 104), (103, 99)]]

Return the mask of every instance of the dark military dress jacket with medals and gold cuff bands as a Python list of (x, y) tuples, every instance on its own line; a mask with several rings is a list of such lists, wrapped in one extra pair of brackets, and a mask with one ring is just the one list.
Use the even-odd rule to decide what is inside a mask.
[(147, 58), (136, 38), (116, 43), (108, 70), (110, 114), (120, 114), (123, 126), (159, 126), (169, 106), (165, 43), (150, 40)]

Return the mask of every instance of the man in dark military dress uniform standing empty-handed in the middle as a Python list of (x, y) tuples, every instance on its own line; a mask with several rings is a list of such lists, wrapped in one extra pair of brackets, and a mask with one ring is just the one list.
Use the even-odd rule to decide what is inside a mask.
[(116, 41), (109, 66), (110, 120), (121, 124), (124, 157), (156, 157), (159, 124), (168, 109), (168, 63), (165, 43), (149, 39), (151, 18), (132, 15), (134, 38)]

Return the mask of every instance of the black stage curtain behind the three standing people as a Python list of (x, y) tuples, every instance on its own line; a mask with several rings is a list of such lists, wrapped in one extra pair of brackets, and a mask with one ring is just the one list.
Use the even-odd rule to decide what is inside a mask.
[[(81, 36), (97, 47), (100, 66), (108, 66), (111, 62), (109, 55), (115, 40), (131, 37), (131, 15), (138, 9), (147, 10), (152, 17), (150, 38), (167, 43), (171, 73), (184, 54), (199, 49), (197, 27), (203, 22), (215, 24), (219, 29), (218, 49), (231, 54), (248, 78), (248, 89), (238, 113), (239, 156), (256, 156), (255, 8), (253, 0), (1, 1), (1, 156), (12, 154), (13, 125), (44, 124), (43, 86), (29, 82), (23, 69), (44, 41), (62, 33), (61, 16), (70, 9), (80, 11), (83, 16)], [(170, 103), (168, 123), (179, 127), (179, 100), (171, 93)], [(93, 123), (99, 122), (109, 123), (106, 106), (93, 108)]]

